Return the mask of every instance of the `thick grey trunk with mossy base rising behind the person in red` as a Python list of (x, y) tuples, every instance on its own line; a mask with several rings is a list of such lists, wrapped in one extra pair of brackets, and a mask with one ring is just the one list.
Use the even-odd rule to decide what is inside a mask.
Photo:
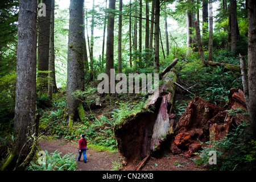
[[(84, 0), (71, 0), (69, 5), (69, 32), (68, 32), (68, 80), (66, 96), (66, 119), (69, 132), (72, 132), (73, 121), (81, 117), (81, 99), (78, 100), (73, 93), (84, 91)], [(78, 108), (80, 107), (79, 111)]]

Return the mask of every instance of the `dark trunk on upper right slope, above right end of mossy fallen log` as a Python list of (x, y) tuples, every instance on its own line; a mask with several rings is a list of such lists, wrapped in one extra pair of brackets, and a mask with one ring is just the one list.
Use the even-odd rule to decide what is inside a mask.
[(237, 47), (237, 1), (230, 0), (231, 51)]

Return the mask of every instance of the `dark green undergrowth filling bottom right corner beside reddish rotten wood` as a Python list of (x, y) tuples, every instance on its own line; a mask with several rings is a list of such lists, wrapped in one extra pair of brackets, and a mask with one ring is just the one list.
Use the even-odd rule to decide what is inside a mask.
[[(238, 125), (224, 139), (207, 142), (213, 147), (205, 147), (201, 151), (201, 158), (196, 161), (197, 166), (204, 164), (210, 170), (255, 170), (256, 142), (251, 139), (247, 127), (246, 124)], [(216, 151), (216, 165), (208, 164), (209, 151)]]

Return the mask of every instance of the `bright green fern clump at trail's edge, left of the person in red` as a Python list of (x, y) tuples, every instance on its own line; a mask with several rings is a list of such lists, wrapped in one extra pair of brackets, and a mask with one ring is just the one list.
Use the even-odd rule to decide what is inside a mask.
[(46, 151), (46, 164), (31, 162), (28, 171), (75, 171), (77, 169), (76, 155), (67, 153), (61, 157), (57, 150), (51, 154)]

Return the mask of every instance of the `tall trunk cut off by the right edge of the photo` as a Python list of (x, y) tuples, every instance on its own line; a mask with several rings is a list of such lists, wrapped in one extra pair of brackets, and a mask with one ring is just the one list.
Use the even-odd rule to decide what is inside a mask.
[(249, 110), (256, 140), (256, 2), (248, 0), (248, 82)]

